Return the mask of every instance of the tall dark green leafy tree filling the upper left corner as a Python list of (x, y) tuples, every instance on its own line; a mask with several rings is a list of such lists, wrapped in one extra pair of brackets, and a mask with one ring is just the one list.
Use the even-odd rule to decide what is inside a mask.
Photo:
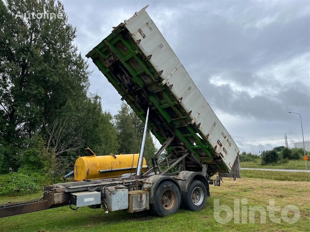
[(0, 1), (0, 24), (0, 172), (5, 173), (19, 167), (19, 149), (44, 130), (43, 117), (49, 124), (68, 101), (85, 99), (90, 72), (60, 1)]

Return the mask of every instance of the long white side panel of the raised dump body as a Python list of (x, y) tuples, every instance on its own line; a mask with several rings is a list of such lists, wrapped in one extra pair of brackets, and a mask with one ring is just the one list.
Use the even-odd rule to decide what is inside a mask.
[(144, 55), (149, 56), (155, 69), (162, 72), (162, 84), (172, 85), (171, 91), (187, 112), (191, 112), (192, 123), (198, 125), (199, 130), (222, 157), (229, 170), (232, 168), (239, 149), (228, 131), (219, 121), (210, 105), (194, 84), (191, 77), (175, 55), (161, 32), (145, 8), (135, 13), (131, 19), (125, 20), (126, 28), (132, 37), (139, 41), (139, 48)]

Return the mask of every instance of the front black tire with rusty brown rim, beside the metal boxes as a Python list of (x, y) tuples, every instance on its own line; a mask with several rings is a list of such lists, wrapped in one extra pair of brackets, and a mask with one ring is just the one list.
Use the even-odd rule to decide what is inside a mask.
[(178, 211), (181, 193), (178, 186), (171, 181), (163, 181), (155, 191), (155, 203), (150, 209), (155, 216), (164, 217)]

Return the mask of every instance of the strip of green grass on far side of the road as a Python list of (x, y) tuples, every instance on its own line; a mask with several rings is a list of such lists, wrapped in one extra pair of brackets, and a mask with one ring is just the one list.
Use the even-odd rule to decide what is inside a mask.
[[(290, 160), (286, 164), (276, 165), (261, 165), (261, 158), (255, 159), (254, 162), (241, 162), (241, 168), (267, 168), (267, 169), (294, 169), (294, 170), (306, 170), (305, 161)], [(310, 170), (310, 161), (307, 161), (308, 170)]]

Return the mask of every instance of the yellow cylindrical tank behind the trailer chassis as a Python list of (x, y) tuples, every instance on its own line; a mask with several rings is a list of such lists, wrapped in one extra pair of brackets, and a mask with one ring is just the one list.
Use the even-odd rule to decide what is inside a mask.
[[(83, 156), (78, 157), (74, 165), (74, 179), (75, 181), (82, 181), (83, 179), (106, 179), (116, 178), (125, 173), (131, 173), (132, 156), (134, 156), (134, 168), (132, 173), (135, 173), (138, 163), (139, 153), (137, 154), (119, 154), (106, 156)], [(116, 158), (114, 158), (116, 157)], [(126, 170), (127, 168), (127, 170)], [(143, 169), (145, 172), (147, 168), (146, 161), (143, 158)], [(123, 170), (117, 170), (123, 169)], [(125, 170), (124, 170), (125, 169)], [(104, 173), (99, 173), (103, 170)]]

